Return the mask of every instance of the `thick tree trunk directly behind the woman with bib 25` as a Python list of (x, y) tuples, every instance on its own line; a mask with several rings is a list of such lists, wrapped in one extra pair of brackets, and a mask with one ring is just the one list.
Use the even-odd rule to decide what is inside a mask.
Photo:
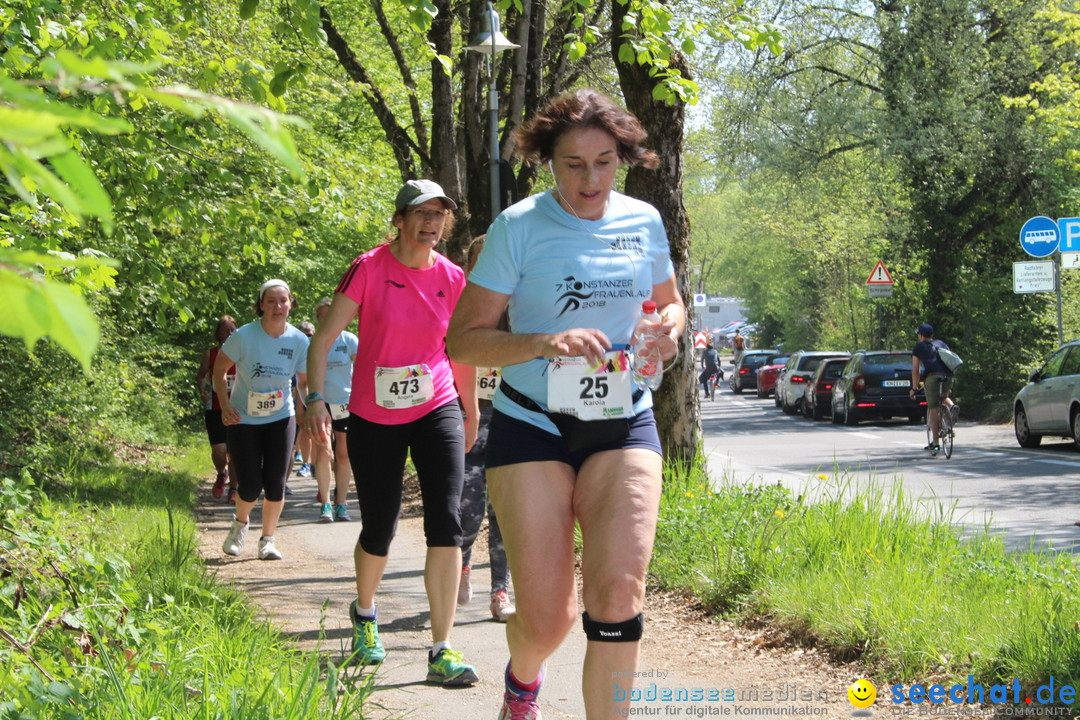
[[(612, 3), (612, 57), (619, 56), (621, 42), (618, 28), (622, 27), (626, 5)], [(672, 65), (690, 77), (686, 58), (672, 55)], [(690, 297), (690, 219), (683, 205), (683, 126), (686, 107), (681, 101), (666, 105), (652, 99), (656, 80), (647, 67), (637, 64), (616, 63), (619, 83), (626, 101), (626, 109), (642, 121), (649, 138), (646, 144), (660, 155), (660, 166), (650, 171), (632, 167), (626, 174), (625, 192), (651, 203), (664, 220), (672, 262), (678, 279), (684, 301)], [(693, 343), (690, 341), (692, 303), (687, 302), (687, 331), (679, 343), (679, 355), (674, 365), (665, 369), (664, 382), (656, 394), (653, 412), (664, 457), (689, 461), (698, 451), (700, 424), (698, 417), (698, 377), (693, 362)]]

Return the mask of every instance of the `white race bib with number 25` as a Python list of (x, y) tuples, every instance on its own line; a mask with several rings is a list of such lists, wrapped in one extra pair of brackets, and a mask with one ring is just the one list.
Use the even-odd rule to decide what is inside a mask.
[(629, 418), (634, 415), (630, 358), (624, 350), (608, 352), (603, 362), (554, 357), (548, 363), (548, 408), (581, 420)]

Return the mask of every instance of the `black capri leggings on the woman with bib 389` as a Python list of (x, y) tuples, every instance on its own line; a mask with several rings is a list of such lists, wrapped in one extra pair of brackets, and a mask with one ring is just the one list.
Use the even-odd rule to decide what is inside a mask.
[(293, 459), (296, 417), (265, 425), (228, 425), (226, 447), (237, 467), (237, 494), (253, 503), (266, 492), (269, 502), (285, 499), (285, 480)]

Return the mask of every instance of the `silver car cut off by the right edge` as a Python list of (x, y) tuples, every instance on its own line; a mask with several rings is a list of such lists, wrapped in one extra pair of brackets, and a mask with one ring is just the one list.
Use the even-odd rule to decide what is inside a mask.
[(1043, 435), (1069, 437), (1080, 447), (1080, 339), (1031, 372), (1013, 400), (1013, 421), (1021, 447), (1038, 447)]

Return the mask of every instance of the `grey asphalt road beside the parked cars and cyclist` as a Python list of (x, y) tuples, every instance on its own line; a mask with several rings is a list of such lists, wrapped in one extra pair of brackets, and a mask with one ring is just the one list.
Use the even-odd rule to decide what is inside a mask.
[(820, 473), (875, 483), (929, 503), (955, 503), (956, 521), (993, 522), (1011, 547), (1080, 551), (1080, 452), (1071, 441), (1043, 438), (1037, 450), (1016, 444), (1011, 424), (963, 420), (951, 459), (930, 457), (924, 425), (906, 420), (868, 421), (854, 427), (786, 416), (772, 398), (727, 386), (701, 400), (704, 449), (714, 483), (783, 484), (821, 489)]

